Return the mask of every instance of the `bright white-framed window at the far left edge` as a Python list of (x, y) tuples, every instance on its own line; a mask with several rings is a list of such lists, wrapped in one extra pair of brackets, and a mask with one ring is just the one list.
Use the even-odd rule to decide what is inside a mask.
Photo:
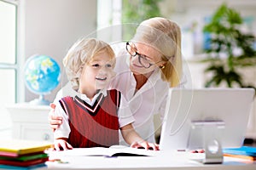
[[(0, 116), (17, 101), (17, 3), (0, 0)], [(1, 118), (0, 124), (6, 122)], [(2, 127), (2, 126), (1, 126)]]

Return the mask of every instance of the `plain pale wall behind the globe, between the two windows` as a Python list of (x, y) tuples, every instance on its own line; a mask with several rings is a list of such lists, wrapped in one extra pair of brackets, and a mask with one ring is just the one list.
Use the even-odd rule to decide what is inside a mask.
[[(21, 48), (24, 59), (45, 54), (61, 65), (68, 48), (80, 37), (96, 31), (96, 1), (91, 0), (21, 0), (24, 3), (25, 39)], [(23, 57), (23, 56), (22, 56)], [(63, 79), (66, 81), (65, 79)], [(20, 82), (21, 83), (21, 82)], [(61, 84), (45, 99), (52, 101)], [(26, 89), (25, 100), (38, 98)]]

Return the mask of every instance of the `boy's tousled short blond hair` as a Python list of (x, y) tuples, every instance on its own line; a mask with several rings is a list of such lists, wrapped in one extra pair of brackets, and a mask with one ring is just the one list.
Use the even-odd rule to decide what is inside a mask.
[(101, 53), (107, 53), (115, 65), (115, 54), (107, 42), (96, 38), (83, 38), (75, 42), (68, 50), (63, 59), (63, 65), (66, 68), (67, 79), (71, 82), (73, 89), (79, 88), (79, 78), (84, 65), (88, 64), (94, 56)]

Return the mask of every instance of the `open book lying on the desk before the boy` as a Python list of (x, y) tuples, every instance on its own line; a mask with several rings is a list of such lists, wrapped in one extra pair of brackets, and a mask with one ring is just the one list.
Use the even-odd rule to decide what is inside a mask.
[(122, 147), (73, 148), (73, 150), (50, 151), (49, 156), (156, 156), (159, 151)]

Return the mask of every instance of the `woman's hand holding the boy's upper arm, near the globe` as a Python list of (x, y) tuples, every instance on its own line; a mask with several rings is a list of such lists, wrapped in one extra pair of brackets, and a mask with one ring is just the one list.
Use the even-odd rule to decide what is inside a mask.
[(52, 131), (55, 132), (55, 129), (60, 127), (60, 125), (62, 124), (62, 117), (61, 116), (55, 116), (55, 104), (51, 103), (49, 104), (50, 106), (50, 111), (49, 111), (49, 116), (48, 116), (48, 120), (49, 120), (49, 127), (52, 128)]

